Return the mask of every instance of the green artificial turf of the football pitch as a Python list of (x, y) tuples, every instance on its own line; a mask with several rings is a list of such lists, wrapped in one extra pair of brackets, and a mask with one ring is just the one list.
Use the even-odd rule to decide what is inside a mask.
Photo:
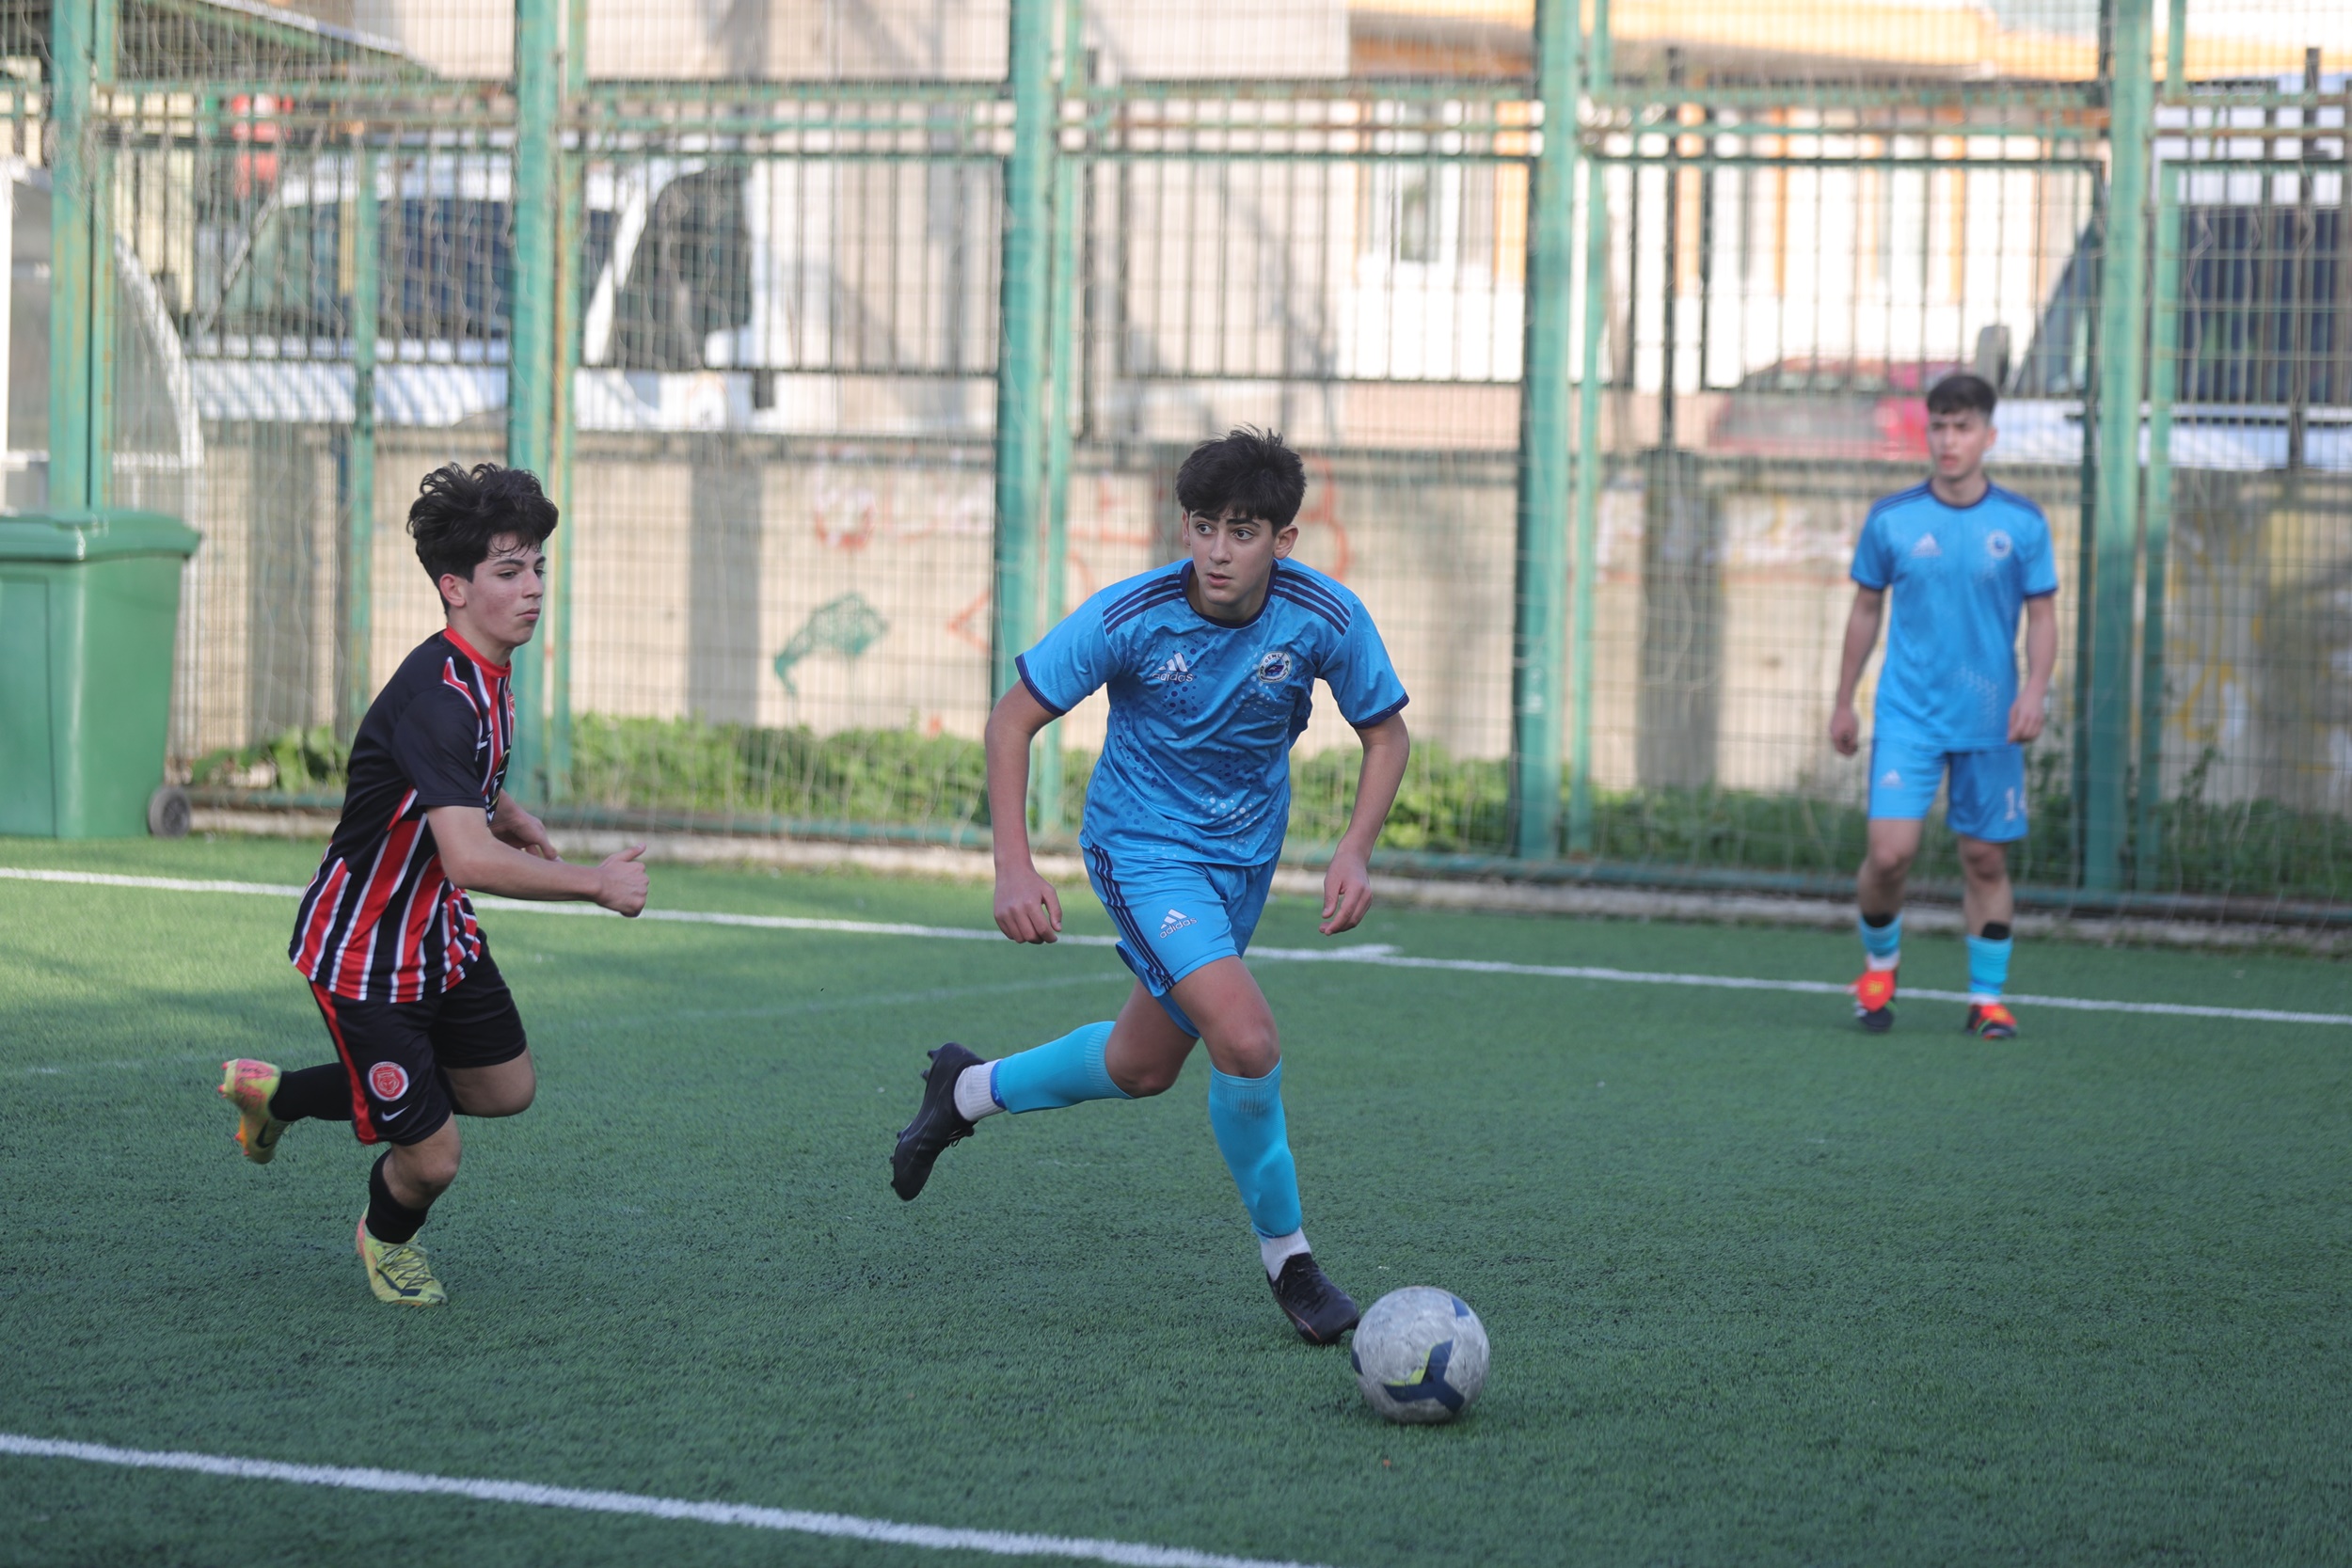
[[(0, 839), (301, 882), (315, 846)], [(988, 893), (654, 867), (661, 907), (983, 926)], [(327, 1056), (292, 903), (0, 882), (0, 1429), (1378, 1563), (2352, 1559), (2352, 1027), (1258, 966), (1317, 1253), (1494, 1340), (1397, 1429), (1289, 1333), (1169, 1095), (887, 1187), (922, 1048), (1108, 1016), (1101, 947), (492, 912), (541, 1095), (466, 1124), (376, 1305), (367, 1154), (247, 1166), (219, 1060)], [(1073, 931), (1105, 931), (1070, 900)], [(1322, 938), (1279, 903), (1263, 945)], [(1851, 938), (1376, 912), (1406, 954), (1844, 980)], [(2020, 943), (2016, 990), (2352, 1011), (2340, 964)], [(1957, 990), (1957, 940), (1905, 980)], [(953, 1563), (706, 1523), (0, 1458), (9, 1563)]]

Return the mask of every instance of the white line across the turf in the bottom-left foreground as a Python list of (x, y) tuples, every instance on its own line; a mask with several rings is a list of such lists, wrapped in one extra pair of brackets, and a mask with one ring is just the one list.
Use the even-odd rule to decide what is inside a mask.
[(764, 1509), (748, 1502), (691, 1502), (684, 1497), (642, 1497), (637, 1493), (593, 1493), (572, 1486), (536, 1486), (532, 1481), (475, 1481), (468, 1476), (423, 1476), (407, 1469), (343, 1469), (339, 1465), (280, 1465), (278, 1460), (238, 1460), (214, 1453), (155, 1453), (148, 1448), (108, 1448), (103, 1443), (61, 1443), (42, 1436), (0, 1432), (0, 1453), (42, 1460), (80, 1460), (85, 1465), (120, 1465), (127, 1469), (183, 1469), (238, 1481), (292, 1481), (294, 1486), (339, 1486), (360, 1493), (426, 1493), (473, 1497), (475, 1502), (520, 1502), (543, 1509), (579, 1509), (586, 1514), (635, 1514), (642, 1519), (691, 1519), (696, 1523), (734, 1523), (753, 1530), (790, 1530), (793, 1535), (830, 1535), (837, 1540), (873, 1540), (891, 1547), (929, 1547), (934, 1552), (990, 1552), (995, 1556), (1061, 1556), (1087, 1563), (1127, 1563), (1131, 1568), (1308, 1568), (1254, 1556), (1188, 1552), (1185, 1547), (1148, 1547), (1124, 1540), (1084, 1540), (1073, 1535), (1014, 1535), (1009, 1530), (950, 1530), (929, 1523), (861, 1519), (858, 1514), (811, 1514), (804, 1509)]

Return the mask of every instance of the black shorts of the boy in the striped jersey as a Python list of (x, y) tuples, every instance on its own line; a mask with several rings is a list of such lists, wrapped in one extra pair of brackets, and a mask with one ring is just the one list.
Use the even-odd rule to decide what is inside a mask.
[(449, 1121), (449, 1067), (496, 1067), (529, 1048), (522, 1013), (485, 952), (466, 978), (423, 1001), (350, 1001), (310, 983), (350, 1074), (360, 1143), (423, 1143)]

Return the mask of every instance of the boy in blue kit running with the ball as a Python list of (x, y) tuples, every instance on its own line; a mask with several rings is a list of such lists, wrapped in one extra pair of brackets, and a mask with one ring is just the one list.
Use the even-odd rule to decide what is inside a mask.
[(1305, 468), (1279, 435), (1202, 442), (1176, 475), (1190, 559), (1115, 583), (1021, 656), (988, 719), (997, 929), (1051, 943), (1061, 900), (1030, 860), (1030, 738), (1098, 686), (1110, 729), (1087, 788), (1080, 849), (1120, 926), (1136, 985), (1115, 1020), (983, 1063), (931, 1051), (922, 1107), (898, 1133), (891, 1187), (922, 1192), (931, 1161), (1000, 1110), (1056, 1110), (1167, 1091), (1209, 1046), (1209, 1128), (1258, 1234), (1275, 1300), (1310, 1345), (1336, 1345), (1357, 1307), (1315, 1255), (1282, 1119), (1275, 1016), (1242, 964), (1289, 825), (1289, 752), (1315, 682), (1364, 741), (1355, 811), (1324, 875), (1324, 936), (1371, 907), (1369, 856), (1404, 778), (1404, 686), (1364, 604), (1289, 559)]

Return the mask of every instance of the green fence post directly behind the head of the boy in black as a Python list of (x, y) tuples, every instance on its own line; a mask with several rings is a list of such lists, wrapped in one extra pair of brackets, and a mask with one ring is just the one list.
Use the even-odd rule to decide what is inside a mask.
[[(557, 0), (515, 0), (515, 294), (506, 350), (506, 461), (553, 482), (555, 404), (555, 94), (562, 71)], [(546, 642), (515, 649), (515, 752), (508, 780), (522, 799), (546, 799)]]

